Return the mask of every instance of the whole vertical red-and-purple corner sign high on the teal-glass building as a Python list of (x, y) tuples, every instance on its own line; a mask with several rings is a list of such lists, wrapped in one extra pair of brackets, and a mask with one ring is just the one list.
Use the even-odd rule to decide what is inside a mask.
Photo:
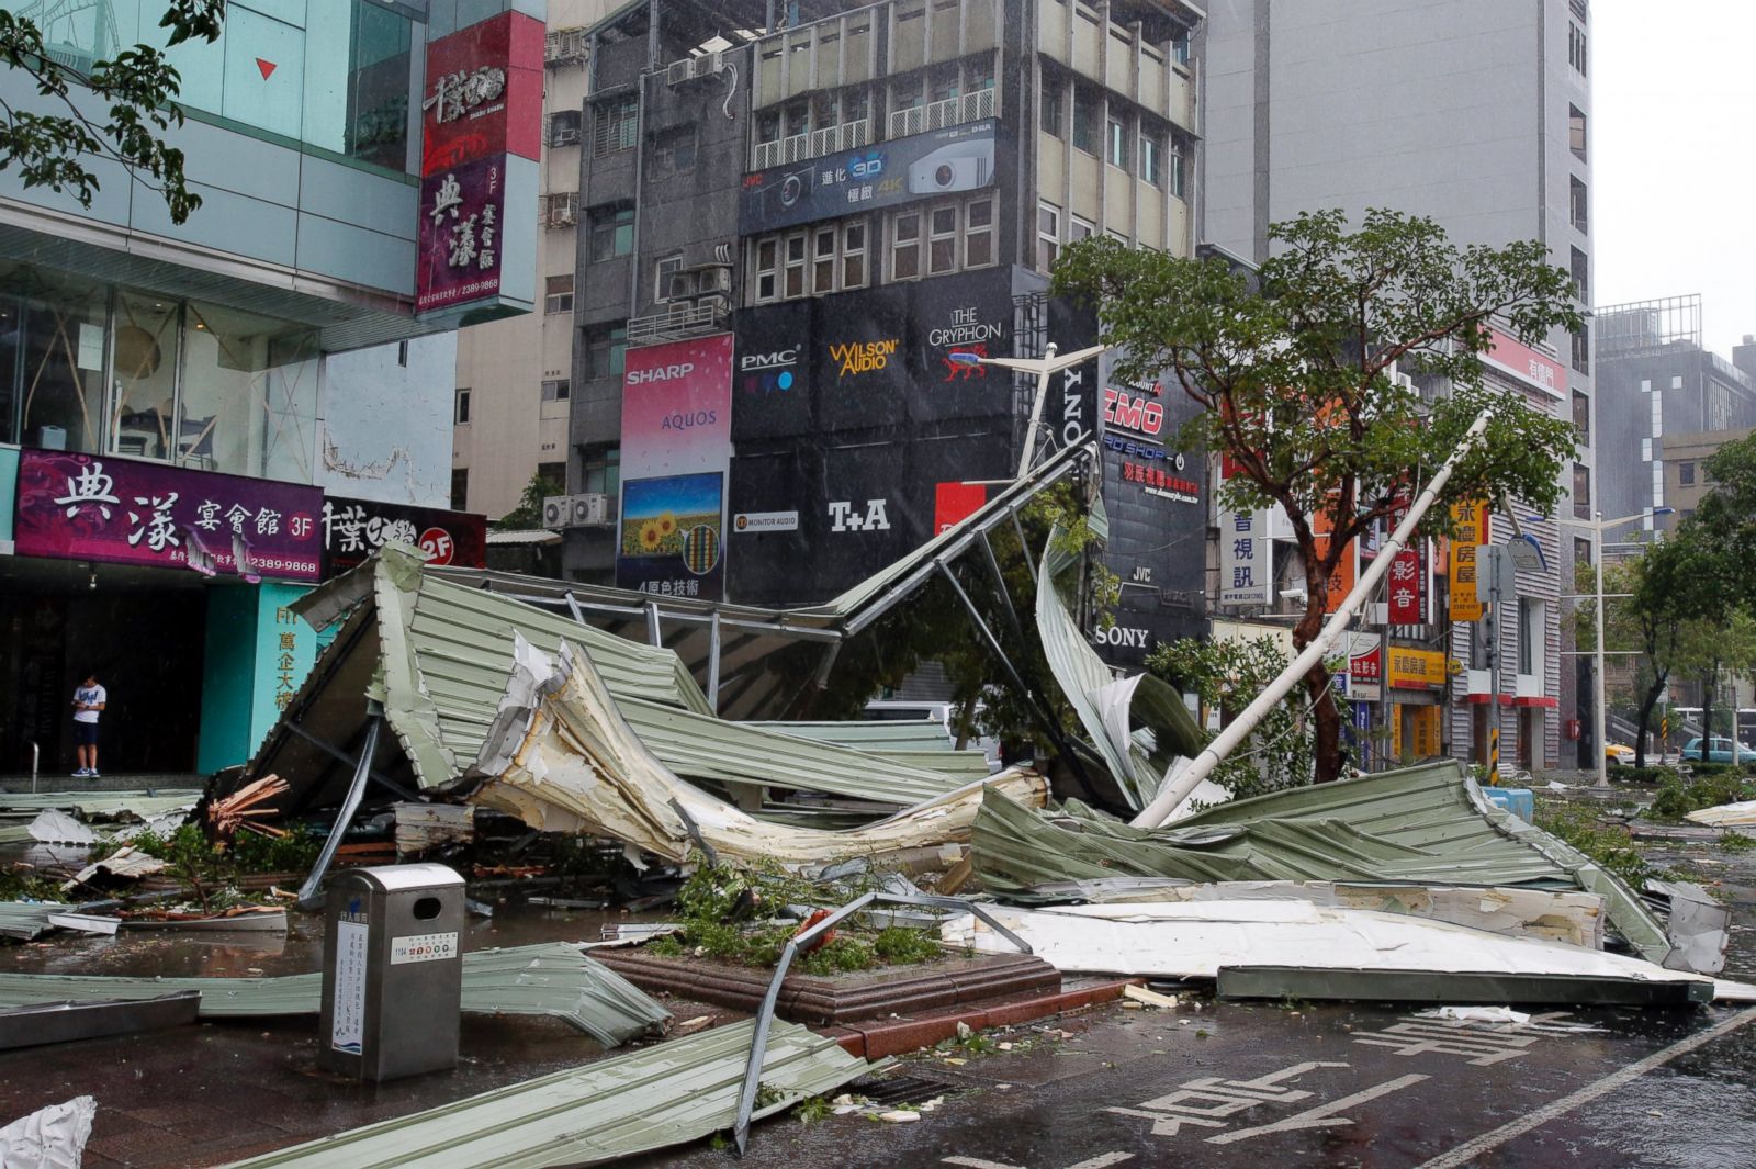
[[(543, 35), (541, 21), (500, 12), (427, 46), (416, 312), (530, 305)], [(520, 233), (511, 251), (507, 230)]]

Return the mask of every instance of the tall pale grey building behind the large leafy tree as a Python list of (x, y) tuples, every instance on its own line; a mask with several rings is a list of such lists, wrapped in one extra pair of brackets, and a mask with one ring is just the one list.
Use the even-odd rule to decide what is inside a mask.
[[(1435, 218), (1459, 244), (1542, 240), (1589, 305), (1587, 42), (1586, 0), (1215, 5), (1205, 49), (1203, 239), (1261, 260), (1270, 223), (1326, 207), (1357, 223), (1370, 207), (1391, 207)], [(1591, 339), (1558, 332), (1531, 351), (1507, 342), (1496, 356), (1505, 358), (1489, 362), (1496, 383), (1573, 418), (1582, 435), (1577, 462), (1561, 472), (1570, 495), (1561, 516), (1524, 525), (1545, 570), (1519, 574), (1519, 620), (1501, 621), (1500, 658), (1517, 662), (1503, 678), (1517, 681), (1494, 695), (1475, 669), (1457, 669), (1449, 683), (1431, 669), (1401, 683), (1387, 678), (1398, 700), (1357, 716), (1373, 727), (1387, 716), (1428, 748), (1473, 758), (1487, 720), (1472, 707), (1494, 709), (1501, 737), (1515, 744), (1505, 758), (1552, 765), (1561, 716), (1589, 720), (1591, 707), (1589, 685), (1561, 669), (1559, 613), (1559, 583), (1589, 548), (1565, 523), (1591, 514)], [(1512, 520), (1493, 521), (1496, 542)], [(1428, 584), (1436, 586), (1436, 574)], [(1419, 660), (1447, 672), (1472, 660), (1473, 623), (1452, 628), (1433, 616), (1443, 614), (1389, 632), (1391, 665), (1398, 649), (1431, 655)]]

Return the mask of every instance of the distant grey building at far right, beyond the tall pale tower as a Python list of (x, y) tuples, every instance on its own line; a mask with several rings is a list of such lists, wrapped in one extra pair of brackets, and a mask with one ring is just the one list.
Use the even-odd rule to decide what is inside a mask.
[(1756, 344), (1745, 337), (1731, 362), (1707, 349), (1700, 297), (1598, 309), (1596, 330), (1598, 511), (1647, 513), (1638, 527), (1666, 532), (1700, 500), (1700, 463), (1756, 427)]

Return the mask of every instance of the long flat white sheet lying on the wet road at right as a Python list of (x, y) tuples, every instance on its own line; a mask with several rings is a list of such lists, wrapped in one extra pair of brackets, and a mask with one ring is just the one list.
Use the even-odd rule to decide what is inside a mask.
[[(1756, 986), (1666, 971), (1642, 958), (1535, 937), (1294, 900), (1212, 900), (1127, 906), (1057, 906), (989, 913), (1031, 951), (1064, 972), (1145, 978), (1217, 978), (1220, 967), (1449, 971), (1558, 974), (1712, 983), (1726, 1002), (1756, 1000)], [(973, 914), (941, 927), (950, 944), (1008, 951)]]

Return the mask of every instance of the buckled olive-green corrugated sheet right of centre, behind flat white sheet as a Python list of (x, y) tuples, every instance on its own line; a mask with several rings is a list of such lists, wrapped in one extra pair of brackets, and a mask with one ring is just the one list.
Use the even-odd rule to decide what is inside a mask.
[(1041, 814), (989, 797), (971, 857), (996, 893), (1115, 876), (1573, 888), (1603, 897), (1608, 925), (1644, 957), (1663, 962), (1672, 948), (1624, 885), (1493, 807), (1454, 760), (1236, 800), (1164, 828), (1078, 802)]

